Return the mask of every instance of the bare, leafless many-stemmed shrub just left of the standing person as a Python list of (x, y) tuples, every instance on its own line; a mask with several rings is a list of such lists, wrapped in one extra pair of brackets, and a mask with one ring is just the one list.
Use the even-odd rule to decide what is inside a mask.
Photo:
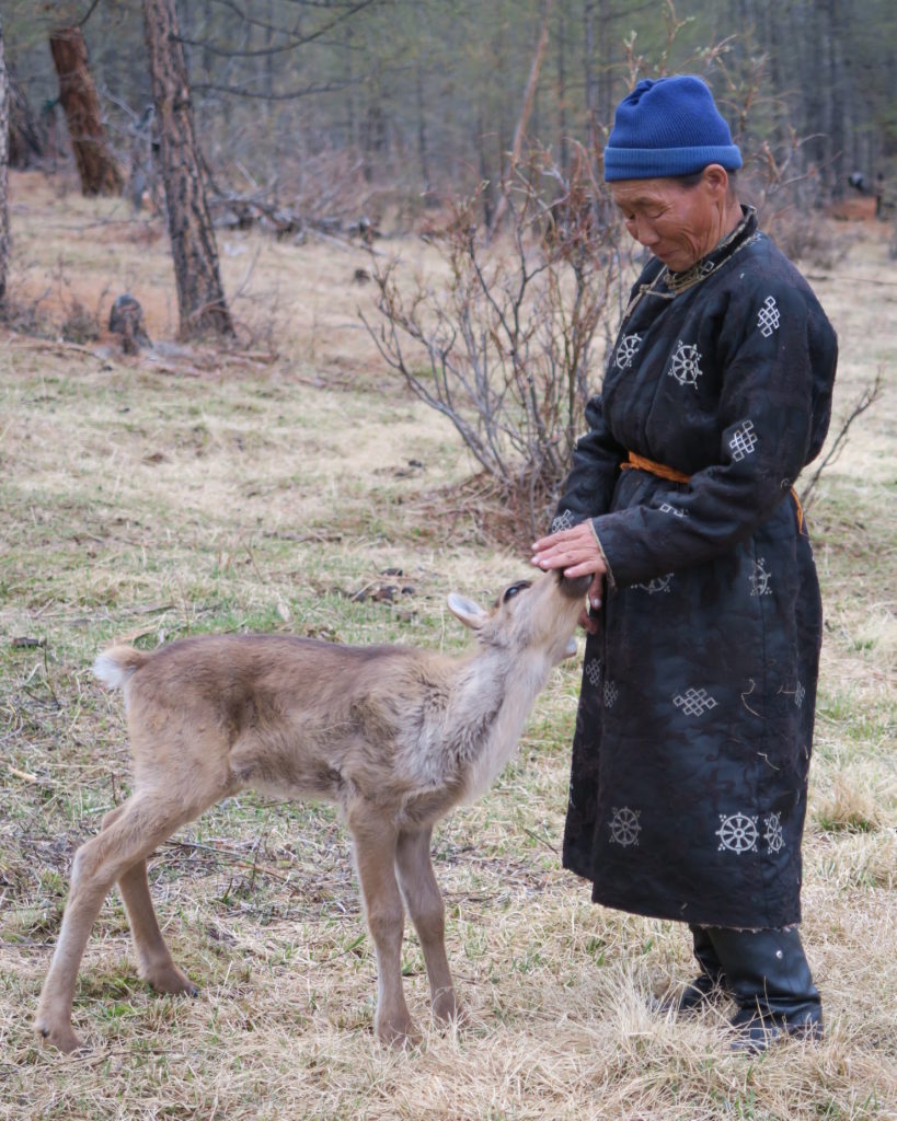
[(479, 193), (427, 235), (444, 286), (404, 284), (397, 261), (372, 256), (382, 318), (362, 319), (530, 534), (545, 525), (582, 425), (595, 334), (619, 280), (618, 226), (584, 149), (567, 177), (534, 150), (501, 191), (501, 238), (478, 226)]

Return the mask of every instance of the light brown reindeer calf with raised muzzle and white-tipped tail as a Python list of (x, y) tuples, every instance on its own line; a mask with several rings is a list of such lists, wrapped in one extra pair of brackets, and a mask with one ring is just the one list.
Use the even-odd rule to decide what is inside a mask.
[(159, 930), (146, 860), (185, 822), (247, 787), (339, 806), (377, 955), (378, 1036), (413, 1038), (401, 988), (403, 900), (420, 939), (434, 1016), (456, 1017), (429, 856), (433, 826), (481, 795), (511, 756), (552, 667), (575, 651), (589, 580), (549, 574), (512, 584), (491, 611), (450, 595), (450, 609), (478, 640), (461, 657), (279, 634), (101, 654), (96, 676), (124, 691), (133, 794), (75, 854), (37, 1012), (41, 1035), (64, 1051), (81, 1047), (71, 1022), (75, 980), (115, 882), (140, 975), (160, 992), (195, 994)]

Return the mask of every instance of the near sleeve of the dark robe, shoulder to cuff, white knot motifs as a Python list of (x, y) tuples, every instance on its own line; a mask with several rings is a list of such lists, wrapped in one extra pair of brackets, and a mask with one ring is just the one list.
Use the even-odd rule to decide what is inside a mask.
[[(819, 448), (829, 398), (817, 389), (834, 377), (834, 332), (806, 288), (760, 279), (745, 295), (738, 308), (730, 307), (718, 349), (716, 462), (688, 483), (651, 488), (645, 504), (593, 520), (618, 584), (703, 564), (731, 549), (779, 503), (794, 502), (792, 485)], [(825, 416), (814, 416), (814, 404)]]

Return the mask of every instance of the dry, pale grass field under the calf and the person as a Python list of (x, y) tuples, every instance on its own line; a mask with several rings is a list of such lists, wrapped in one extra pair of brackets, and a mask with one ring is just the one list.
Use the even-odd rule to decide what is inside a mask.
[[(35, 317), (45, 335), (75, 305), (104, 318), (128, 288), (154, 339), (172, 337), (158, 221), (37, 176), (13, 177), (11, 197), (12, 294), (34, 305), (46, 293)], [(407, 1053), (376, 1041), (345, 833), (330, 807), (248, 795), (150, 864), (166, 937), (200, 998), (158, 997), (137, 979), (112, 896), (75, 1001), (92, 1049), (41, 1047), (31, 1018), (68, 863), (129, 785), (120, 697), (90, 674), (99, 647), (279, 630), (460, 649), (445, 594), (492, 597), (528, 566), (446, 490), (471, 471), (453, 432), (387, 376), (359, 330), (357, 306), (371, 298), (352, 282), (360, 252), (223, 237), (247, 332), (230, 356), (123, 359), (104, 337), (4, 331), (0, 1121), (897, 1118), (897, 287), (886, 240), (854, 232), (836, 267), (805, 266), (841, 336), (835, 427), (877, 370), (886, 391), (810, 511), (827, 621), (803, 932), (827, 1035), (759, 1058), (728, 1053), (719, 1013), (674, 1022), (649, 1011), (651, 993), (692, 975), (683, 928), (595, 908), (560, 868), (575, 664), (555, 671), (492, 791), (436, 833), (469, 1027), (428, 1027), (408, 932), (406, 990), (424, 1041)]]

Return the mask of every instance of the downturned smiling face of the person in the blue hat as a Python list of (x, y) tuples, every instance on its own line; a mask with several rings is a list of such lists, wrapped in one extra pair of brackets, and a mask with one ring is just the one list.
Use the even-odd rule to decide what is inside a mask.
[(673, 272), (682, 272), (705, 257), (733, 229), (727, 219), (728, 212), (731, 216), (727, 192), (724, 172), (721, 183), (705, 172), (692, 187), (683, 187), (676, 179), (623, 179), (611, 184), (626, 229)]

